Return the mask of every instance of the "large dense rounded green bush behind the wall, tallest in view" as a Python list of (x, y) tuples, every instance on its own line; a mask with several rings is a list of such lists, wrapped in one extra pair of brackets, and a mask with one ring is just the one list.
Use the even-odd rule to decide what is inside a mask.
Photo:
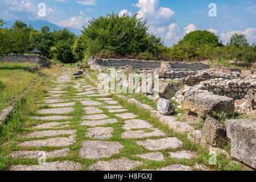
[(126, 56), (147, 52), (152, 57), (162, 54), (162, 39), (148, 33), (146, 21), (137, 15), (108, 14), (92, 19), (82, 31), (86, 55)]

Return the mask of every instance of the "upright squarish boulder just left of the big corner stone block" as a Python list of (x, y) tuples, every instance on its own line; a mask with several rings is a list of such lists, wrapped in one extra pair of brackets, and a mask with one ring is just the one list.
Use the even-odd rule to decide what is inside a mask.
[(201, 144), (209, 143), (213, 147), (220, 147), (226, 138), (226, 129), (217, 119), (207, 118), (204, 122)]

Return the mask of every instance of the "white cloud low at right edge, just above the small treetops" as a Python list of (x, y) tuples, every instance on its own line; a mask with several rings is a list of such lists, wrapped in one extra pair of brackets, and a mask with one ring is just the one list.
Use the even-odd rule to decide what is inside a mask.
[(224, 32), (221, 34), (222, 40), (225, 42), (228, 42), (229, 39), (232, 37), (233, 34), (243, 34), (246, 36), (246, 39), (249, 42), (254, 42), (256, 40), (256, 29), (255, 28), (246, 28), (245, 31), (237, 30), (237, 31), (231, 31), (231, 32)]

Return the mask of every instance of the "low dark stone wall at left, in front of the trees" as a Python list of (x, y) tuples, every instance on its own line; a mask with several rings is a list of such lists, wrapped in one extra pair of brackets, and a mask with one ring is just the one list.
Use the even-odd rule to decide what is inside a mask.
[(39, 55), (2, 55), (0, 63), (36, 63), (43, 67), (48, 67), (51, 64), (46, 57)]

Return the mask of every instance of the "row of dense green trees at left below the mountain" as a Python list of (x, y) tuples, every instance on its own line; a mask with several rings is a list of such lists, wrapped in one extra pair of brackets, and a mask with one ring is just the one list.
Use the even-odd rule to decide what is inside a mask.
[[(2, 21), (0, 21), (0, 27)], [(38, 49), (49, 59), (59, 59), (63, 63), (74, 63), (72, 47), (76, 35), (64, 28), (50, 31), (48, 26), (35, 30), (26, 23), (16, 20), (11, 28), (0, 28), (0, 55), (17, 53), (24, 54)]]

